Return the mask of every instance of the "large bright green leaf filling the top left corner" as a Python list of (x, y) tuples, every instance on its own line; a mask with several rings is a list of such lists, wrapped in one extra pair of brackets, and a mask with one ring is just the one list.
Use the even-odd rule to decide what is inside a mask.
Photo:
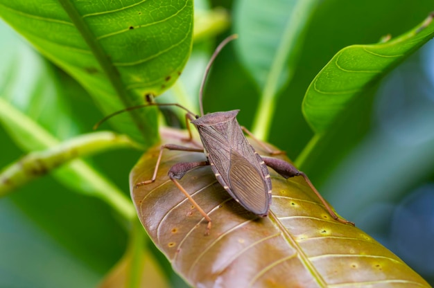
[[(43, 7), (43, 9), (42, 9)], [(0, 16), (72, 75), (105, 114), (159, 95), (191, 50), (193, 1), (0, 1)], [(112, 121), (145, 145), (157, 138), (155, 109)]]

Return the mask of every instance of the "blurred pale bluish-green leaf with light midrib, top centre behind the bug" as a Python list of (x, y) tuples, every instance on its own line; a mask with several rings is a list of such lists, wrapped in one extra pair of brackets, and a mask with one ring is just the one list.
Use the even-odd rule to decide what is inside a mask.
[(241, 63), (261, 90), (253, 132), (267, 138), (279, 91), (295, 73), (304, 30), (316, 0), (238, 0), (234, 30)]

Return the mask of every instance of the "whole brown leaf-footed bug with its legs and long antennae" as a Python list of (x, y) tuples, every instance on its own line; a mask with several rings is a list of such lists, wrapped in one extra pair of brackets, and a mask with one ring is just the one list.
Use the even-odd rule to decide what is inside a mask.
[[(155, 103), (151, 102), (150, 96), (146, 97), (148, 102), (147, 105), (139, 105), (136, 107), (130, 107), (122, 111), (129, 111), (131, 109), (138, 109), (141, 107), (147, 107), (151, 105), (156, 106), (177, 106), (186, 111), (186, 127), (189, 131), (189, 138), (186, 141), (193, 142), (193, 137), (191, 135), (191, 130), (189, 128), (188, 120), (190, 123), (196, 126), (199, 132), (200, 140), (202, 141), (202, 147), (196, 143), (198, 147), (186, 147), (182, 145), (166, 144), (162, 145), (160, 148), (159, 156), (157, 158), (157, 163), (155, 165), (155, 170), (152, 179), (137, 183), (135, 188), (139, 186), (144, 186), (149, 183), (153, 183), (157, 178), (157, 171), (159, 168), (159, 163), (162, 159), (162, 154), (164, 150), (178, 150), (186, 152), (201, 152), (205, 153), (207, 156), (207, 161), (198, 162), (188, 162), (188, 163), (176, 163), (168, 171), (168, 177), (175, 183), (175, 186), (179, 188), (184, 195), (191, 201), (191, 204), (201, 213), (201, 215), (207, 220), (207, 232), (211, 228), (211, 218), (207, 213), (205, 213), (202, 208), (194, 201), (186, 190), (177, 181), (184, 177), (186, 172), (197, 168), (200, 166), (210, 165), (211, 170), (214, 172), (216, 179), (223, 188), (231, 195), (235, 201), (237, 201), (241, 206), (255, 215), (261, 217), (266, 217), (268, 211), (270, 210), (270, 204), (272, 199), (272, 184), (270, 179), (270, 173), (268, 172), (268, 167), (275, 170), (285, 179), (295, 176), (302, 176), (306, 183), (309, 184), (315, 195), (318, 196), (325, 208), (338, 222), (345, 224), (354, 225), (354, 223), (342, 219), (333, 212), (327, 201), (325, 201), (318, 190), (315, 189), (309, 178), (303, 172), (300, 172), (292, 164), (272, 157), (260, 156), (250, 145), (247, 138), (245, 138), (244, 133), (248, 134), (254, 141), (257, 141), (261, 147), (264, 148), (270, 155), (273, 154), (284, 154), (281, 151), (272, 151), (264, 143), (254, 138), (251, 132), (245, 127), (238, 124), (236, 120), (236, 115), (239, 110), (232, 111), (220, 111), (204, 115), (202, 106), (202, 94), (203, 87), (205, 85), (205, 80), (211, 64), (220, 52), (220, 50), (232, 39), (235, 39), (236, 35), (227, 37), (223, 42), (216, 48), (216, 51), (211, 56), (211, 60), (207, 65), (205, 75), (202, 80), (200, 87), (199, 100), (200, 100), (200, 116), (193, 114), (191, 111), (179, 105), (177, 103)], [(105, 117), (100, 121), (107, 120), (116, 114), (121, 113), (118, 111), (110, 116)], [(194, 143), (194, 142), (193, 142)]]

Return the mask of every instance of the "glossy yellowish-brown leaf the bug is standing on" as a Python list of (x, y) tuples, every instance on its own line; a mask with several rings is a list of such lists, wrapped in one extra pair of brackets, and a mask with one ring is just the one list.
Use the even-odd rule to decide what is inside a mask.
[(372, 237), (331, 219), (302, 177), (271, 169), (266, 218), (236, 203), (209, 167), (187, 172), (180, 183), (212, 219), (205, 235), (207, 221), (167, 177), (173, 164), (205, 155), (165, 151), (155, 182), (134, 188), (151, 179), (158, 153), (153, 147), (133, 168), (132, 199), (155, 244), (195, 287), (430, 287)]

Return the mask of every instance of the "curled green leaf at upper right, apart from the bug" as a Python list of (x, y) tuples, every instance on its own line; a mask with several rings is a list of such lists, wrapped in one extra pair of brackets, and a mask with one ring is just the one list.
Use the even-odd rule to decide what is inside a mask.
[(431, 39), (432, 18), (388, 42), (352, 45), (339, 51), (316, 75), (304, 96), (304, 116), (314, 132), (330, 129), (351, 102)]

